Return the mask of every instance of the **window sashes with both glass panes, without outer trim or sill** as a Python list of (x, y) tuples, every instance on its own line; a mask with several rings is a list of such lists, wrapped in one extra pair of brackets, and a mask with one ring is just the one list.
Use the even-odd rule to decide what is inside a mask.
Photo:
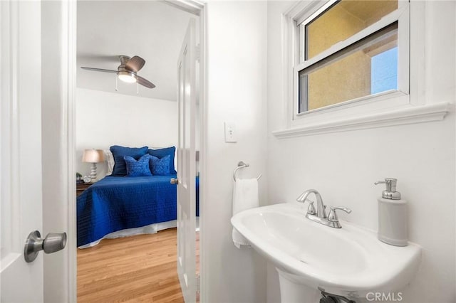
[(296, 20), (295, 115), (408, 94), (406, 14), (405, 1), (331, 0)]

